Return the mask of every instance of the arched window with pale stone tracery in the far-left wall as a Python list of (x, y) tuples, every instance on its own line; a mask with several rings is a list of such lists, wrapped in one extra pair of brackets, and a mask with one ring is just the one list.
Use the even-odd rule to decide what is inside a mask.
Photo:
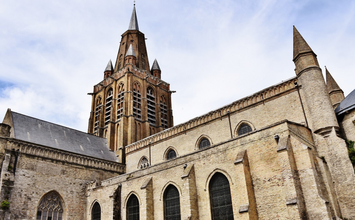
[(49, 192), (39, 201), (36, 220), (62, 220), (63, 210), (60, 196)]

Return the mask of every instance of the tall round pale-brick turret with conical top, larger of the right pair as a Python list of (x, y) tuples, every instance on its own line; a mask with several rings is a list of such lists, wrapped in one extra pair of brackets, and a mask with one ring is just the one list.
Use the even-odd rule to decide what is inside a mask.
[(317, 55), (295, 26), (293, 27), (293, 62), (310, 114), (310, 128), (317, 134), (329, 132), (333, 127), (338, 131), (337, 118), (322, 70), (318, 64)]

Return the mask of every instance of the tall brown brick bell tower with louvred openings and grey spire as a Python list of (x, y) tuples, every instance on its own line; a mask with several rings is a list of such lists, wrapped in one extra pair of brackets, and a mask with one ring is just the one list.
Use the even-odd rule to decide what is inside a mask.
[(115, 68), (94, 85), (88, 133), (106, 137), (108, 147), (125, 162), (124, 146), (173, 126), (170, 85), (161, 80), (157, 60), (150, 70), (144, 34), (133, 7), (122, 34)]

